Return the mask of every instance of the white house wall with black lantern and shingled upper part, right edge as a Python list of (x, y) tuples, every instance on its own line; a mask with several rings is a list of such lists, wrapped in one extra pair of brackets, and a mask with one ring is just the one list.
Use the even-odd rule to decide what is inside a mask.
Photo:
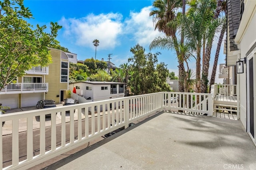
[(255, 9), (255, 0), (227, 0), (226, 66), (236, 66), (237, 113), (254, 143), (256, 143)]

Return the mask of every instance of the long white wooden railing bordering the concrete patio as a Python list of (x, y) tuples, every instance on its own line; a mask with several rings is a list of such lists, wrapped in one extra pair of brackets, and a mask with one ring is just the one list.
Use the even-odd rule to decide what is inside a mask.
[[(3, 140), (5, 139), (2, 135), (5, 130), (10, 131), (10, 129), (4, 129), (5, 125), (0, 127), (0, 168), (28, 169), (79, 147), (80, 145), (84, 145), (111, 131), (121, 127), (127, 128), (129, 123), (164, 109), (171, 111), (178, 109), (212, 115), (212, 107), (210, 107), (212, 103), (208, 95), (209, 94), (159, 92), (0, 115), (0, 123), (5, 121), (5, 123), (12, 125), (12, 139), (8, 141), (8, 143), (11, 144), (8, 145), (10, 152), (12, 152), (11, 158), (6, 158), (6, 153), (2, 151), (4, 147)], [(202, 99), (202, 96), (206, 101), (202, 102), (204, 100), (200, 100), (202, 107), (192, 107), (194, 104), (197, 106), (196, 99)], [(173, 102), (170, 100), (171, 97), (173, 97)], [(176, 101), (174, 101), (174, 97)], [(66, 134), (66, 111), (70, 111), (68, 114), (70, 127), (69, 133), (67, 133), (69, 135)], [(51, 119), (50, 121), (46, 121), (45, 115), (49, 113), (51, 114)], [(33, 121), (35, 117), (38, 117), (37, 122)], [(20, 128), (19, 120), (21, 119), (27, 122), (25, 128), (24, 123), (23, 127)], [(38, 123), (38, 121), (40, 121), (38, 125), (39, 135), (36, 135), (36, 137), (38, 137), (40, 143), (36, 145), (37, 140), (33, 141), (33, 137), (35, 137), (33, 135), (33, 129), (36, 127), (34, 123)], [(77, 128), (75, 128), (75, 123), (77, 123)], [(48, 127), (50, 129), (46, 129), (47, 124), (50, 124)], [(58, 126), (61, 126), (60, 131), (56, 130)], [(26, 139), (19, 136), (20, 129), (23, 131), (25, 129)], [(50, 135), (48, 133), (50, 133)], [(46, 135), (48, 135), (47, 140)], [(60, 141), (57, 141), (57, 136), (61, 136)], [(24, 142), (23, 140), (26, 141), (27, 149), (25, 153), (19, 154), (19, 145)], [(22, 156), (20, 156), (21, 154)], [(6, 163), (8, 160), (9, 164)]]

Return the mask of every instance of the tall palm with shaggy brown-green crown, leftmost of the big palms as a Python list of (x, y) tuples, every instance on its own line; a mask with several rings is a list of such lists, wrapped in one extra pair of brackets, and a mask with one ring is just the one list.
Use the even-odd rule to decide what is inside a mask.
[[(158, 29), (161, 32), (164, 32), (165, 35), (171, 36), (174, 42), (174, 45), (178, 45), (178, 40), (176, 37), (176, 31), (178, 28), (176, 17), (178, 8), (182, 7), (182, 0), (156, 0), (153, 2), (153, 7), (156, 8), (150, 12), (150, 16), (153, 16), (153, 22), (155, 24), (155, 30)], [(150, 45), (150, 49), (160, 47), (162, 45), (158, 45), (158, 40), (161, 37), (155, 38), (154, 41)], [(177, 56), (180, 54), (180, 51), (175, 48)], [(179, 63), (179, 91), (184, 92), (184, 63), (183, 61), (178, 60)]]

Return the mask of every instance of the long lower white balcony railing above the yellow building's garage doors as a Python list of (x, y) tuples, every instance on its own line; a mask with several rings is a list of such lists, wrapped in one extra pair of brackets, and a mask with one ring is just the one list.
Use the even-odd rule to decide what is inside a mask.
[(48, 92), (48, 83), (10, 83), (0, 94), (20, 94)]

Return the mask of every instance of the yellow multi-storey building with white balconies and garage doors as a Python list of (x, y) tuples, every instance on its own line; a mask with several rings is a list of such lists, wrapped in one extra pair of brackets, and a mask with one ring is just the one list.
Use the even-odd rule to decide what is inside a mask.
[(55, 100), (56, 104), (66, 98), (69, 81), (68, 55), (50, 48), (52, 63), (49, 66), (33, 66), (26, 74), (8, 84), (0, 92), (0, 103), (11, 108), (36, 106), (39, 100)]

